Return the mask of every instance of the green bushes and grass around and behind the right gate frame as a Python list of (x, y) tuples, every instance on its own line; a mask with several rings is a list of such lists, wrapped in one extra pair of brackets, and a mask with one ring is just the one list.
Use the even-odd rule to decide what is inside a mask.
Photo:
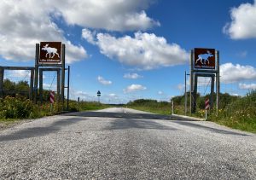
[[(210, 95), (200, 96), (198, 94), (197, 110), (192, 114), (189, 113), (190, 110), (188, 101), (187, 115), (204, 119), (205, 100), (209, 98), (209, 96)], [(213, 99), (216, 99), (216, 95), (214, 95)], [(171, 101), (173, 101), (174, 104), (174, 113), (185, 115), (185, 96), (172, 97)], [(213, 103), (215, 104), (216, 102)], [(171, 114), (172, 112), (172, 105), (170, 102), (157, 102), (155, 100), (140, 99), (127, 103), (127, 107), (167, 115)], [(241, 131), (250, 131), (256, 133), (256, 90), (249, 92), (247, 96), (231, 96), (227, 93), (220, 94), (218, 116), (216, 107), (213, 107), (208, 113), (207, 120)]]

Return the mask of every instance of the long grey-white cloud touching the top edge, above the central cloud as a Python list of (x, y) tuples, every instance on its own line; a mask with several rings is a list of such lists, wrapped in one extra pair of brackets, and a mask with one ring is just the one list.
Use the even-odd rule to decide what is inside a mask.
[(158, 21), (148, 17), (145, 9), (152, 0), (67, 0), (48, 1), (70, 25), (106, 29), (110, 31), (146, 30), (160, 26)]

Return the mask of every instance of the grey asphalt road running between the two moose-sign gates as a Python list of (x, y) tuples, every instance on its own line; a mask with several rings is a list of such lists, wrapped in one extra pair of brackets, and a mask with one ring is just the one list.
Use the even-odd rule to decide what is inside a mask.
[(256, 179), (256, 135), (124, 108), (0, 131), (0, 179)]

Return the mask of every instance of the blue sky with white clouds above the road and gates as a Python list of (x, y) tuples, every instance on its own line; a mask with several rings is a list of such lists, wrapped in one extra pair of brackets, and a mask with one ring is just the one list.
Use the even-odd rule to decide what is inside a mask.
[[(190, 49), (203, 47), (220, 52), (223, 92), (256, 89), (253, 0), (65, 2), (1, 1), (0, 66), (33, 66), (35, 44), (61, 41), (73, 99), (94, 101), (101, 90), (102, 102), (168, 101), (184, 92)], [(54, 77), (45, 74), (45, 88)]]

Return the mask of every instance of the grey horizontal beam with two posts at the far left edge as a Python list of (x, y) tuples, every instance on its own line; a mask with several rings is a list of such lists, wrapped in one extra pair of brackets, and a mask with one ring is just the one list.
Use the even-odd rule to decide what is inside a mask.
[(4, 70), (30, 70), (29, 99), (32, 100), (35, 67), (0, 67), (0, 97), (3, 97)]

